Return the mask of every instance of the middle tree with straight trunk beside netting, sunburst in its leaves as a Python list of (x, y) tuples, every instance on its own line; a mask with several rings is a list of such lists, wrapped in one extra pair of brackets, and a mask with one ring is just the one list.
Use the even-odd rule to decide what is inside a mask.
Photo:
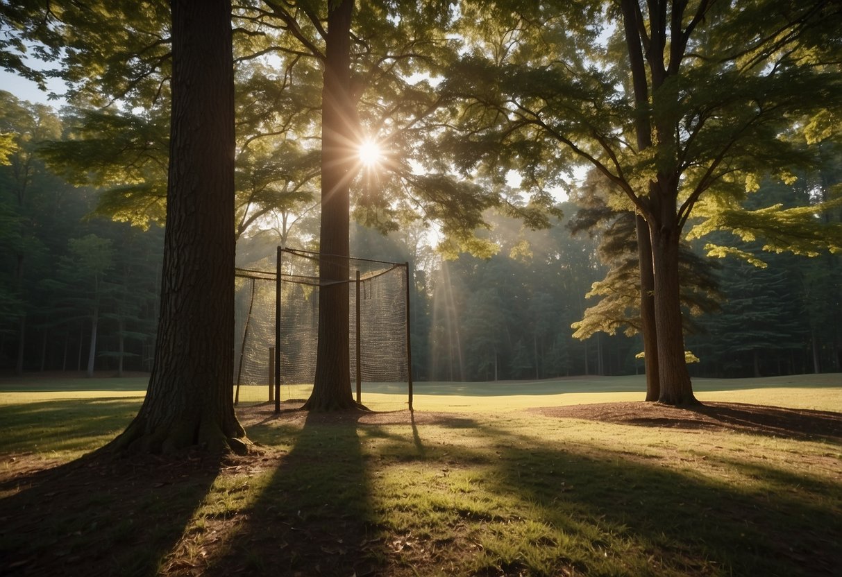
[[(436, 110), (428, 82), (408, 82), (432, 73), (452, 57), (445, 34), (449, 0), (418, 3), (354, 0), (298, 4), (267, 1), (274, 21), (297, 40), (296, 59), (306, 55), (322, 67), (322, 165), (319, 236), (319, 338), (308, 410), (355, 406), (349, 378), (349, 220), (381, 231), (419, 218), (438, 220), (445, 236), (476, 239), (483, 209), (495, 204), (482, 187), (456, 183), (428, 166), (418, 175), (410, 160), (427, 164), (425, 123)], [(379, 141), (383, 159), (376, 186), (360, 183), (360, 146)], [(438, 155), (432, 155), (436, 161)], [(370, 175), (369, 175), (370, 176)], [(356, 192), (356, 194), (354, 194)], [(353, 211), (352, 211), (353, 207)]]

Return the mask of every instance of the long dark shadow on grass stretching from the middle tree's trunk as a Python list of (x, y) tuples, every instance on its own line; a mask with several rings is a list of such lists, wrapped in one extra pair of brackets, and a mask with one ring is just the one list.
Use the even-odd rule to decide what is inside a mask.
[[(203, 574), (378, 574), (382, 555), (358, 436), (362, 415), (308, 414), (290, 453), (245, 511), (248, 520)], [(251, 438), (271, 444), (279, 434), (271, 421), (249, 428)]]

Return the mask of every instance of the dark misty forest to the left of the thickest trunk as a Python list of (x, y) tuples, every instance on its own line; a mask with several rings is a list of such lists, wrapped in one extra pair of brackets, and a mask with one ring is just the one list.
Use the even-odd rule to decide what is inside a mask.
[[(66, 137), (65, 121), (0, 93), (0, 130), (14, 145), (0, 165), (0, 365), (148, 370), (163, 236), (83, 219), (94, 191), (64, 182), (40, 156), (45, 142)], [(99, 260), (108, 243), (113, 258)]]

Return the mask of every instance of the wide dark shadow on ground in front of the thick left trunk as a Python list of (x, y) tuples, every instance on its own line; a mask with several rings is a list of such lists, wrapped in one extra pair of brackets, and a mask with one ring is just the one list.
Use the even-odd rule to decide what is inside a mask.
[(19, 475), (0, 500), (0, 574), (157, 574), (219, 469), (210, 458), (90, 453)]

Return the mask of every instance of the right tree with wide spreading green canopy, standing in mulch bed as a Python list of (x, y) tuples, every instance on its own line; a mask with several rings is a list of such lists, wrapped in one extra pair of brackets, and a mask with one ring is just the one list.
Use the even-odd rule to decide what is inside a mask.
[(786, 179), (803, 158), (799, 129), (839, 109), (839, 3), (498, 0), (463, 14), (477, 48), (445, 82), (468, 103), (453, 139), (463, 163), (514, 166), (541, 186), (584, 162), (622, 192), (616, 208), (642, 217), (644, 310), (652, 265), (654, 326), (643, 330), (658, 400), (695, 403), (679, 297), (685, 225), (701, 201), (740, 198), (768, 173)]

